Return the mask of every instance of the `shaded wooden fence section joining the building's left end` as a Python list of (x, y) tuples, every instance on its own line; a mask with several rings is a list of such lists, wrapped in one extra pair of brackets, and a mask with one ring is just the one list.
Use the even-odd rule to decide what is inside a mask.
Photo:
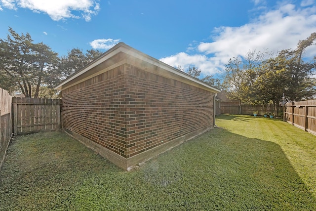
[(61, 127), (61, 100), (13, 97), (14, 135)]

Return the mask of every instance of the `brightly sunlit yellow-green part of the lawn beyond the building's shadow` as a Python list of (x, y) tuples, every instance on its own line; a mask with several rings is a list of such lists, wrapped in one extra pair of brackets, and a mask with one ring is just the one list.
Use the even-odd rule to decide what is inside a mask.
[(316, 198), (316, 136), (281, 119), (220, 115), (216, 124), (234, 134), (275, 143)]

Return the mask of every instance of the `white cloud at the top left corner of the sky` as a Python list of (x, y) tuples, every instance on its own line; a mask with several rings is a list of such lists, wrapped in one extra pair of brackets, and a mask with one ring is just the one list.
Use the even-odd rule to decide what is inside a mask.
[(51, 19), (59, 21), (66, 18), (80, 18), (72, 11), (80, 11), (86, 21), (91, 15), (97, 15), (100, 5), (95, 0), (0, 0), (3, 7), (17, 9), (28, 8), (34, 12), (47, 13)]

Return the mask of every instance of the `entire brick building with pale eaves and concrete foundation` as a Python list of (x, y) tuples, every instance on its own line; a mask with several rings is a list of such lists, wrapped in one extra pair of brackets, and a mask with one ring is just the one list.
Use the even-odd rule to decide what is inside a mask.
[(63, 128), (123, 169), (212, 128), (220, 91), (122, 42), (56, 88)]

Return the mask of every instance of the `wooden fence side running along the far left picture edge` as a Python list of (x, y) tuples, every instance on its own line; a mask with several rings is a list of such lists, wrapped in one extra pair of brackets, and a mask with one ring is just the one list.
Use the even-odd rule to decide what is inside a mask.
[(12, 97), (0, 88), (0, 169), (12, 137)]

